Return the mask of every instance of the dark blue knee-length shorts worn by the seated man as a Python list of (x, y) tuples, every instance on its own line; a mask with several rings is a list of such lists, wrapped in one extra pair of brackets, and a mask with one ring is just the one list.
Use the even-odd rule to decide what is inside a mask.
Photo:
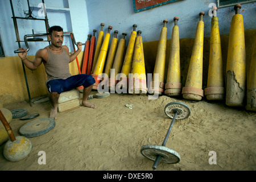
[(95, 83), (94, 78), (91, 75), (80, 74), (68, 77), (67, 79), (55, 79), (47, 82), (48, 92), (65, 92), (72, 89), (75, 89), (79, 86), (84, 86), (87, 88), (90, 85)]

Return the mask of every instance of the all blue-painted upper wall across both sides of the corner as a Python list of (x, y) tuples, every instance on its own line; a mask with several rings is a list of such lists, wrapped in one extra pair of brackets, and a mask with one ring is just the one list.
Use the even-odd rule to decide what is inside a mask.
[[(37, 5), (41, 0), (30, 0), (35, 6), (34, 15), (38, 14)], [(122, 38), (122, 32), (126, 32), (126, 40), (130, 38), (133, 24), (137, 24), (137, 30), (142, 31), (143, 42), (159, 40), (160, 30), (163, 27), (163, 20), (167, 19), (168, 39), (171, 39), (171, 30), (174, 26), (174, 16), (179, 17), (180, 38), (194, 38), (196, 24), (199, 21), (200, 11), (205, 12), (205, 37), (210, 36), (210, 21), (208, 15), (210, 3), (216, 0), (180, 0), (167, 5), (155, 7), (150, 10), (134, 13), (132, 0), (45, 0), (49, 25), (60, 25), (64, 31), (73, 31), (77, 42), (86, 42), (87, 35), (93, 34), (96, 29), (96, 38), (100, 31), (100, 24), (105, 23), (104, 32), (108, 31), (108, 26), (112, 26), (111, 37), (114, 30), (118, 30), (118, 39)], [(15, 16), (24, 16), (23, 11), (28, 10), (26, 0), (13, 0)], [(0, 1), (0, 34), (3, 49), (6, 56), (15, 56), (14, 50), (18, 48), (16, 43), (13, 19), (11, 14), (10, 1)], [(233, 6), (218, 9), (217, 16), (220, 22), (220, 34), (229, 34), (230, 22), (235, 14)], [(256, 28), (256, 2), (242, 4), (241, 14), (245, 30)], [(40, 18), (38, 16), (38, 18)], [(23, 40), (25, 34), (31, 34), (32, 28), (35, 33), (44, 32), (44, 24), (35, 23), (32, 20), (19, 20), (20, 39)], [(126, 41), (128, 43), (128, 41)], [(71, 40), (65, 38), (64, 44), (73, 51)], [(48, 46), (48, 42), (30, 43), (28, 55), (35, 55), (39, 48)], [(22, 43), (22, 47), (24, 44)], [(83, 48), (84, 49), (84, 48)]]

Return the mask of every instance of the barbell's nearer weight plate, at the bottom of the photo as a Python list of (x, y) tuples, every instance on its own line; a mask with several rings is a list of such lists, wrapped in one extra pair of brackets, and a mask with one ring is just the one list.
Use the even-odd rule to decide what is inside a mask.
[(171, 148), (164, 146), (147, 144), (141, 148), (141, 154), (151, 160), (155, 160), (156, 157), (160, 155), (160, 162), (167, 164), (176, 164), (180, 162), (180, 155)]

